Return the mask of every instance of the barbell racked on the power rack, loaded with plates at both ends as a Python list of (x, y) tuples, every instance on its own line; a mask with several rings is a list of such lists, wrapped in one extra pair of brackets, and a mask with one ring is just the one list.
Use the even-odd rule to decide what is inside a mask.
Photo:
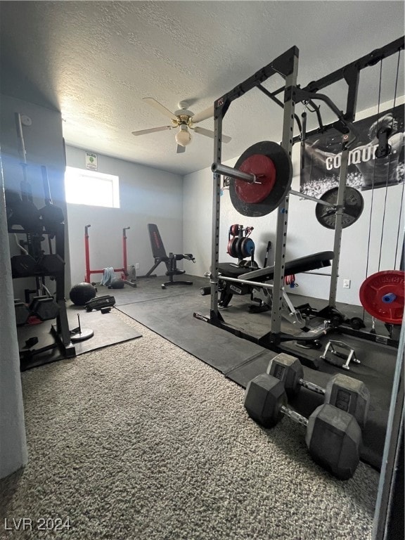
[[(276, 210), (291, 194), (316, 202), (316, 219), (322, 226), (335, 229), (336, 212), (340, 209), (338, 188), (326, 191), (319, 199), (290, 189), (293, 179), (290, 155), (273, 141), (261, 141), (250, 146), (240, 155), (234, 168), (213, 163), (211, 170), (229, 179), (231, 203), (244, 216), (265, 216)], [(343, 229), (359, 219), (363, 207), (361, 193), (346, 186), (342, 205)]]

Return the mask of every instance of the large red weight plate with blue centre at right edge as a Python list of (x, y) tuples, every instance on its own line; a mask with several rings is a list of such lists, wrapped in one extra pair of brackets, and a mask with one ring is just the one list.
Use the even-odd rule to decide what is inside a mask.
[(360, 302), (366, 311), (389, 324), (401, 324), (404, 316), (405, 272), (385, 270), (361, 283)]

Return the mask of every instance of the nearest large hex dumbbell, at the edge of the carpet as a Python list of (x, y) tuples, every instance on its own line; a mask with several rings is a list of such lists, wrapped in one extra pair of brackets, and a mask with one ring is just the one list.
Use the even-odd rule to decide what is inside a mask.
[(340, 480), (348, 480), (359, 465), (361, 429), (356, 418), (324, 403), (305, 418), (288, 408), (283, 382), (269, 373), (257, 375), (248, 383), (245, 409), (264, 428), (272, 428), (283, 416), (307, 428), (305, 443), (311, 458)]

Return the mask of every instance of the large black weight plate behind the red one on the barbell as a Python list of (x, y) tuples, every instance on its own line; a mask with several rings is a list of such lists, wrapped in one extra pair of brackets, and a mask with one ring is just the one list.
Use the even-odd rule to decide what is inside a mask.
[[(240, 200), (236, 192), (236, 182), (240, 180), (231, 179), (229, 182), (229, 193), (233, 207), (243, 216), (262, 217), (281, 204), (288, 191), (290, 191), (293, 179), (293, 164), (290, 156), (279, 144), (272, 141), (261, 141), (250, 146), (236, 162), (235, 169), (238, 169), (251, 155), (262, 154), (270, 158), (276, 167), (276, 184), (271, 189), (271, 193), (262, 200), (261, 203), (246, 203)], [(260, 179), (258, 179), (260, 181)]]

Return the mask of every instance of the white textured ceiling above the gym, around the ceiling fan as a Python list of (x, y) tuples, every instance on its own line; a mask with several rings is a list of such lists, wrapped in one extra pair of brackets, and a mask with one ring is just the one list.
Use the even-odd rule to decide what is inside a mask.
[[(176, 154), (174, 131), (133, 136), (170, 124), (143, 97), (172, 111), (186, 100), (199, 113), (292, 46), (304, 86), (401, 37), (404, 2), (1, 1), (0, 21), (4, 94), (61, 110), (72, 146), (186, 174), (211, 165), (212, 139), (193, 134)], [(380, 68), (362, 74), (359, 110), (394, 96), (396, 69), (392, 58), (382, 88)], [(281, 86), (273, 79), (269, 88)], [(402, 79), (403, 68), (399, 89)], [(213, 129), (214, 120), (199, 125)], [(232, 103), (224, 133), (224, 161), (280, 141), (281, 109), (253, 89)]]

